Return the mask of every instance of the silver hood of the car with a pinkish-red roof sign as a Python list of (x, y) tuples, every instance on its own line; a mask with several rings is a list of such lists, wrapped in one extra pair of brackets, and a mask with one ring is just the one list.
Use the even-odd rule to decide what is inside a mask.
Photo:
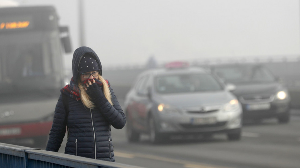
[(221, 105), (228, 103), (235, 97), (226, 91), (218, 92), (199, 92), (199, 93), (176, 93), (157, 95), (155, 98), (158, 103), (170, 104), (179, 108), (204, 106), (204, 105)]

